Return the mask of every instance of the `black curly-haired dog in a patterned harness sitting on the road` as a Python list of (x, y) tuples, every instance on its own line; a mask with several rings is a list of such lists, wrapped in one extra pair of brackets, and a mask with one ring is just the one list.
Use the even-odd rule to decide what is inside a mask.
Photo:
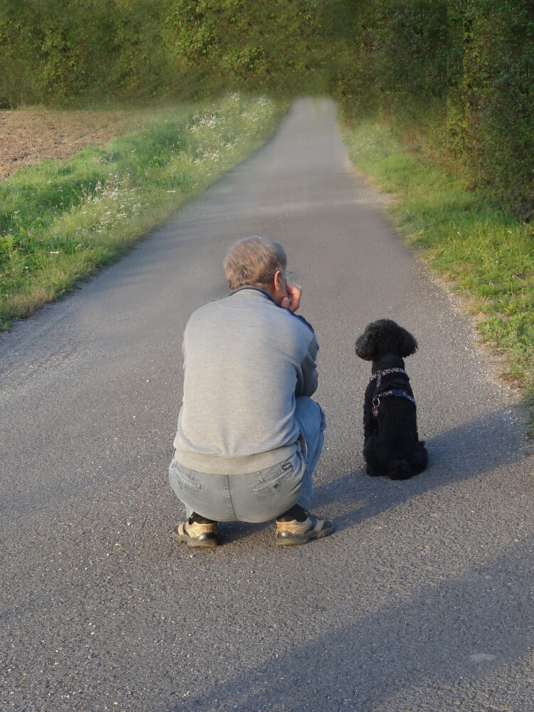
[(372, 362), (363, 406), (363, 456), (367, 474), (406, 480), (428, 463), (417, 434), (414, 394), (404, 370), (406, 356), (417, 351), (412, 334), (391, 319), (367, 326), (356, 342), (356, 355)]

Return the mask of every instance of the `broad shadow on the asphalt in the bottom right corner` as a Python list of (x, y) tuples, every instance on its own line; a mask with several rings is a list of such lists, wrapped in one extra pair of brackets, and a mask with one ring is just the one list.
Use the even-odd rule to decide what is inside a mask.
[(401, 590), (400, 600), (372, 600), (372, 612), (352, 602), (356, 610), (348, 620), (338, 601), (339, 627), (314, 636), (310, 626), (304, 641), (284, 652), (273, 645), (257, 666), (243, 653), (239, 674), (236, 661), (227, 670), (221, 666), (217, 678), (203, 678), (169, 712), (404, 712), (466, 709), (466, 703), (470, 710), (528, 712), (532, 639), (525, 585), (534, 565), (532, 543), (503, 548), (449, 578), (429, 568), (424, 587), (414, 585), (406, 595)]

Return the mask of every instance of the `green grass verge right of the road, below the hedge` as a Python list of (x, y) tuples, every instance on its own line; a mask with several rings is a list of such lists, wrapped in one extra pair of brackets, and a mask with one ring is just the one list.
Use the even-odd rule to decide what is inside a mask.
[[(534, 226), (492, 209), (436, 153), (365, 122), (345, 130), (350, 157), (394, 194), (396, 228), (430, 268), (466, 296), (481, 338), (506, 362), (504, 376), (534, 405)], [(439, 160), (439, 155), (438, 155)], [(533, 415), (534, 421), (534, 415)], [(533, 422), (534, 425), (534, 422)]]

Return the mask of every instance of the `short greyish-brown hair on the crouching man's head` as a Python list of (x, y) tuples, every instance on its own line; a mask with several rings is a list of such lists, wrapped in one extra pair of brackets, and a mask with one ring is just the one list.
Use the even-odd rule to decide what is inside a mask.
[(224, 273), (231, 291), (251, 284), (271, 286), (277, 270), (286, 271), (288, 258), (278, 242), (266, 237), (247, 237), (231, 248), (224, 260)]

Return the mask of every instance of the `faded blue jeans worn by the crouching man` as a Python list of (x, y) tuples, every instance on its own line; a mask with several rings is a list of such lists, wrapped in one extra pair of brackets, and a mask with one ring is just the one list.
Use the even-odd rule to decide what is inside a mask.
[(325, 414), (318, 403), (300, 397), (295, 403), (300, 436), (290, 458), (264, 470), (244, 475), (197, 472), (174, 458), (169, 482), (184, 503), (187, 517), (193, 512), (219, 522), (267, 522), (294, 504), (310, 510), (312, 473), (323, 449)]

